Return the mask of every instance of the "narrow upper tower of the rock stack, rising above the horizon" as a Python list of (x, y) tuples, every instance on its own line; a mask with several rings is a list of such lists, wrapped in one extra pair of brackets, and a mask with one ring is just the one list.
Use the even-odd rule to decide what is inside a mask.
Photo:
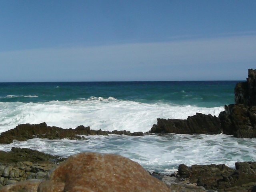
[(247, 81), (236, 84), (235, 102), (256, 105), (256, 70), (249, 69)]

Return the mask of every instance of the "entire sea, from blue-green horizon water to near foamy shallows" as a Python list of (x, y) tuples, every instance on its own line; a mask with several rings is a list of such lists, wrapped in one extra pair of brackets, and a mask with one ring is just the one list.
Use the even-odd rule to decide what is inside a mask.
[[(31, 82), (0, 83), (0, 132), (18, 124), (149, 131), (157, 118), (186, 119), (218, 114), (234, 103), (238, 81)], [(63, 157), (78, 152), (115, 153), (146, 170), (170, 173), (179, 164), (255, 161), (256, 139), (219, 135), (86, 136), (87, 140), (30, 139), (0, 144), (0, 150), (26, 147)]]

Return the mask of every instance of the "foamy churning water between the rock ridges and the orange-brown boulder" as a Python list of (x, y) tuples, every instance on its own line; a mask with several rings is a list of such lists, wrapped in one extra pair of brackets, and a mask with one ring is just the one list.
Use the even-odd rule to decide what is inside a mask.
[(180, 164), (226, 164), (255, 161), (256, 139), (219, 135), (166, 134), (146, 136), (85, 136), (87, 140), (30, 139), (1, 144), (0, 150), (25, 147), (41, 152), (70, 156), (79, 152), (115, 153), (130, 158), (147, 170), (173, 172)]

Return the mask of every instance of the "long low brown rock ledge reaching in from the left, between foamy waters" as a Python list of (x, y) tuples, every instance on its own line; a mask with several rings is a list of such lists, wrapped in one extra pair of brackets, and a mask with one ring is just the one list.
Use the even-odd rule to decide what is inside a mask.
[(83, 136), (79, 135), (108, 135), (108, 134), (125, 134), (128, 136), (142, 136), (143, 132), (134, 132), (130, 131), (102, 131), (100, 130), (91, 130), (90, 127), (84, 127), (82, 125), (78, 126), (75, 129), (63, 129), (56, 126), (47, 126), (45, 122), (40, 124), (20, 124), (15, 128), (2, 132), (0, 135), (0, 144), (10, 144), (13, 140), (26, 141), (32, 138), (47, 138), (47, 139), (86, 139)]

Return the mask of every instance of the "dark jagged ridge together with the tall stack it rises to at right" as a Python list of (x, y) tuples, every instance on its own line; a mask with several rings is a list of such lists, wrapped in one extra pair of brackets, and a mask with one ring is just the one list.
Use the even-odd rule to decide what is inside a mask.
[(256, 138), (256, 70), (248, 70), (246, 82), (236, 84), (235, 104), (225, 106), (218, 117), (197, 113), (187, 120), (158, 119), (152, 133), (220, 134)]

